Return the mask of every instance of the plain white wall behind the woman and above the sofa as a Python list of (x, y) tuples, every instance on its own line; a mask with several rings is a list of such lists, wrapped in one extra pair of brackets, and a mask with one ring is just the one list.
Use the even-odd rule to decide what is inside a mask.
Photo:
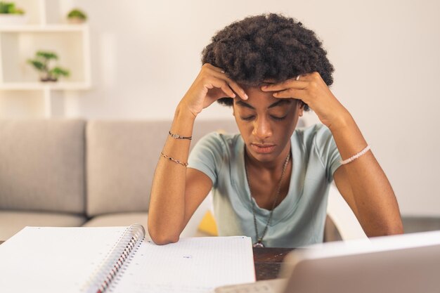
[[(440, 216), (440, 1), (65, 1), (89, 14), (93, 90), (71, 117), (170, 119), (200, 51), (233, 20), (282, 12), (315, 30), (335, 65), (332, 90), (355, 117), (403, 214)], [(200, 119), (231, 117), (213, 106)], [(309, 123), (316, 117), (308, 115)]]

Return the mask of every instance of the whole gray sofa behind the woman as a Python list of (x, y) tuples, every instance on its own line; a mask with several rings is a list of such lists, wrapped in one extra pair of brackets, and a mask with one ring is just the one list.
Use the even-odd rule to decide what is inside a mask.
[[(25, 226), (146, 227), (151, 182), (169, 126), (0, 120), (0, 240)], [(237, 131), (232, 118), (199, 121), (192, 145), (218, 129)]]

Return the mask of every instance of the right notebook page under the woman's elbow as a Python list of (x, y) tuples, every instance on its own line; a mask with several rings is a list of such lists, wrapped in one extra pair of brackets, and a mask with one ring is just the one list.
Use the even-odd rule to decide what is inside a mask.
[(110, 292), (212, 292), (255, 282), (250, 237), (182, 238), (169, 245), (144, 240)]

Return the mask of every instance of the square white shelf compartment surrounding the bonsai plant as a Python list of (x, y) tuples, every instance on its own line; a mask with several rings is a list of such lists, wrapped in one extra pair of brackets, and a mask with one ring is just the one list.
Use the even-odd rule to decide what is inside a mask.
[[(12, 84), (15, 88), (17, 84), (38, 83), (38, 72), (27, 64), (37, 51), (58, 54), (59, 60), (54, 64), (70, 70), (70, 77), (63, 81), (90, 83), (88, 26), (37, 25), (0, 30), (0, 86)], [(35, 89), (36, 86), (31, 87)]]

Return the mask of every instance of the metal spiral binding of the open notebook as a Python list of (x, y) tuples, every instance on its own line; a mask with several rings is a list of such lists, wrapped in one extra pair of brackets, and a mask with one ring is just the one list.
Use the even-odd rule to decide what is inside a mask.
[(133, 224), (119, 237), (101, 266), (93, 274), (88, 293), (104, 293), (113, 285), (118, 273), (122, 271), (127, 259), (132, 256), (145, 237), (145, 229), (140, 224)]

